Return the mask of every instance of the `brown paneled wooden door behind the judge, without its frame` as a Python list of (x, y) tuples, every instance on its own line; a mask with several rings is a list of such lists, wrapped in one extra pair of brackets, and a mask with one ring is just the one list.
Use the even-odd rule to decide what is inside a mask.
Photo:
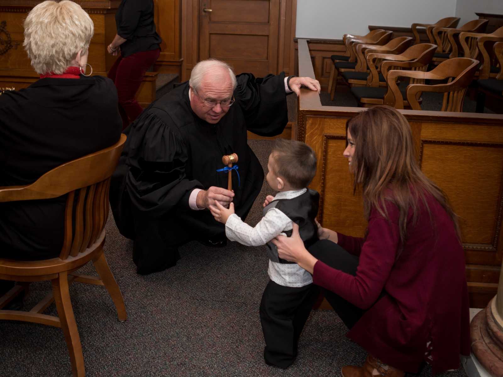
[(226, 61), (236, 73), (278, 73), (280, 0), (200, 0), (199, 60)]

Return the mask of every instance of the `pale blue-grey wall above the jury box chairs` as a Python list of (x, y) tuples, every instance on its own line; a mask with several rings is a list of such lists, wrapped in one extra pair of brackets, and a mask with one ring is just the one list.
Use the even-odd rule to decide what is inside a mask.
[[(478, 9), (481, 3), (494, 7), (498, 3), (499, 8), (503, 4), (503, 0), (460, 2), (475, 3)], [(342, 39), (346, 33), (367, 34), (369, 25), (410, 27), (455, 15), (456, 0), (297, 0), (296, 37)]]

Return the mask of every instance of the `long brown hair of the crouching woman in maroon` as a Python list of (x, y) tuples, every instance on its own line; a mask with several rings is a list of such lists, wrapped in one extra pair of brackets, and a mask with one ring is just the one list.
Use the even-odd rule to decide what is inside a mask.
[(440, 187), (428, 179), (417, 165), (410, 125), (401, 113), (389, 106), (375, 106), (350, 119), (346, 127), (355, 143), (351, 159), (355, 174), (353, 189), (356, 192), (358, 186), (362, 187), (367, 220), (372, 208), (388, 219), (385, 201), (393, 202), (399, 210), (398, 225), (403, 245), (407, 235), (408, 211), (412, 209), (415, 222), (419, 200), (434, 221), (426, 199), (431, 195), (451, 217), (460, 239), (458, 216)]

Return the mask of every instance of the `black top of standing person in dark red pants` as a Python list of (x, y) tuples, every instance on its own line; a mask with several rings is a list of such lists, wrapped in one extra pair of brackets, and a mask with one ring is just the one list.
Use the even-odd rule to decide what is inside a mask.
[(155, 31), (153, 0), (122, 0), (115, 14), (117, 34), (127, 39), (120, 45), (123, 57), (158, 49), (161, 39)]

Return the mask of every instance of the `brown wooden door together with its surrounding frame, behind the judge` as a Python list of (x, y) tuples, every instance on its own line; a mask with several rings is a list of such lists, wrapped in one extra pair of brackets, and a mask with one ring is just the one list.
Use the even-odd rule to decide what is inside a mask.
[[(203, 12), (204, 8), (212, 12)], [(208, 57), (227, 61), (236, 73), (290, 74), (296, 12), (296, 0), (183, 1), (182, 81), (189, 79), (198, 61)]]

